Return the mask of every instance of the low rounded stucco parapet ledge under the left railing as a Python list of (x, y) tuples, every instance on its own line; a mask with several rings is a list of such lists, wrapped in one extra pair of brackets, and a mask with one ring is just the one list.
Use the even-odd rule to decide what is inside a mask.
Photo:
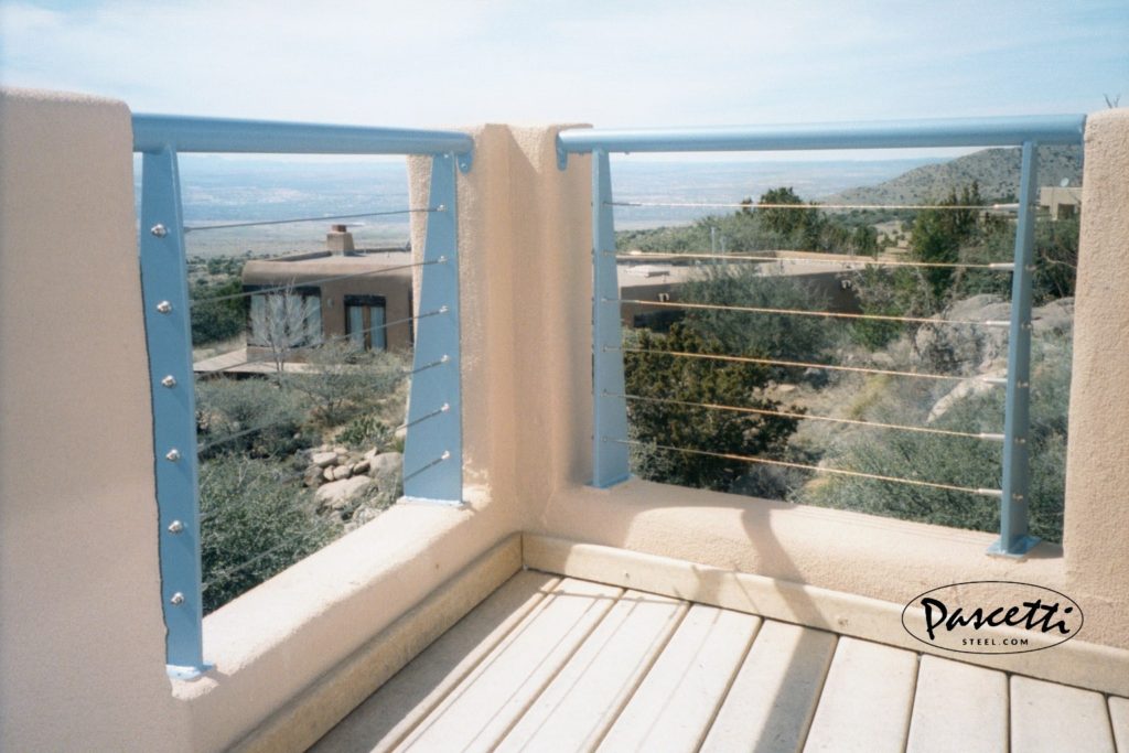
[(505, 506), (401, 502), (204, 618), (215, 669), (173, 683), (224, 750), (514, 532)]

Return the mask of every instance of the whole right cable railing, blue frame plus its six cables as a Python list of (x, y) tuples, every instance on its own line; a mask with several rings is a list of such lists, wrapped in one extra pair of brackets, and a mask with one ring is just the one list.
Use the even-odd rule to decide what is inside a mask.
[[(630, 478), (630, 450), (649, 446), (666, 453), (699, 455), (726, 461), (777, 466), (815, 474), (840, 475), (866, 479), (883, 483), (935, 489), (947, 492), (968, 493), (999, 500), (1000, 536), (989, 552), (1018, 557), (1029, 551), (1036, 539), (1029, 531), (1030, 467), (1030, 392), (1031, 392), (1031, 330), (1032, 330), (1032, 277), (1034, 272), (1034, 204), (1036, 192), (1036, 147), (1042, 145), (1079, 145), (1082, 142), (1084, 116), (1052, 115), (1035, 117), (1000, 117), (975, 120), (936, 120), (918, 122), (849, 123), (780, 125), (723, 129), (651, 129), (651, 130), (569, 130), (558, 137), (558, 164), (567, 165), (569, 155), (592, 156), (593, 167), (593, 483), (606, 488)], [(1021, 177), (1018, 202), (1015, 204), (969, 204), (969, 203), (777, 203), (751, 201), (742, 203), (703, 202), (633, 202), (615, 201), (612, 195), (611, 154), (628, 152), (690, 152), (690, 151), (776, 151), (809, 149), (889, 149), (929, 147), (1019, 147)], [(867, 256), (848, 256), (807, 253), (803, 256), (781, 256), (770, 253), (681, 253), (681, 252), (632, 252), (620, 253), (615, 247), (614, 213), (616, 207), (680, 207), (714, 209), (726, 208), (742, 211), (756, 209), (803, 210), (803, 211), (848, 211), (848, 210), (961, 210), (975, 212), (1014, 213), (1015, 244), (1009, 262), (961, 262), (929, 260), (891, 260)], [(893, 269), (919, 269), (928, 271), (983, 271), (1012, 274), (1010, 316), (1004, 321), (925, 317), (848, 313), (830, 310), (804, 310), (795, 307), (741, 306), (715, 301), (646, 300), (621, 292), (618, 266), (622, 261), (647, 262), (663, 260), (669, 262), (758, 262), (808, 265), (832, 265), (846, 271), (863, 270), (867, 266)], [(926, 272), (922, 272), (926, 273)], [(829, 415), (809, 415), (799, 411), (779, 411), (774, 408), (753, 408), (723, 404), (706, 400), (689, 400), (676, 396), (648, 396), (631, 394), (625, 387), (624, 357), (662, 357), (693, 359), (716, 364), (750, 365), (782, 369), (814, 369), (847, 374), (876, 375), (905, 379), (934, 382), (964, 382), (970, 377), (936, 374), (878, 366), (848, 366), (824, 364), (795, 358), (771, 358), (756, 354), (691, 352), (689, 350), (638, 347), (623, 341), (621, 332), (621, 306), (630, 304), (657, 309), (680, 309), (701, 312), (726, 312), (732, 314), (773, 315), (789, 317), (824, 317), (844, 322), (909, 323), (942, 326), (1007, 327), (1008, 359), (1006, 376), (980, 375), (973, 377), (986, 385), (1004, 386), (1006, 394), (1004, 431), (956, 431), (935, 427), (914, 427), (903, 423), (843, 419)], [(1003, 483), (999, 489), (979, 485), (942, 482), (938, 480), (895, 476), (872, 473), (857, 469), (832, 467), (759, 457), (743, 453), (715, 452), (700, 447), (676, 446), (667, 443), (641, 443), (629, 431), (628, 405), (632, 402), (671, 404), (682, 408), (701, 409), (711, 412), (728, 412), (750, 415), (772, 415), (788, 420), (816, 420), (839, 422), (860, 428), (930, 435), (947, 439), (977, 439), (1003, 444)], [(916, 476), (917, 474), (911, 474)]]

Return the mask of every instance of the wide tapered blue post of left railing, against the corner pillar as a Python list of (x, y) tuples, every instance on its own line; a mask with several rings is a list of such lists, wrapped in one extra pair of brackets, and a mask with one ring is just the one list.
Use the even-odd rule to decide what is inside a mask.
[[(463, 500), (463, 410), (458, 327), (458, 212), (455, 158), (431, 160), (425, 265), (415, 321), (415, 356), (404, 496), (458, 505)], [(430, 315), (432, 312), (439, 312)]]

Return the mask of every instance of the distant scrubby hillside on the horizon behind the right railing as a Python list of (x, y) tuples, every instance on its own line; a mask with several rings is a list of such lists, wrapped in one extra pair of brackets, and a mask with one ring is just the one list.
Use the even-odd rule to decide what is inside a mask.
[[(1069, 180), (1082, 185), (1082, 147), (1040, 147), (1039, 185)], [(980, 195), (1014, 201), (1019, 186), (1019, 149), (984, 149), (947, 163), (925, 165), (872, 186), (848, 189), (822, 203), (919, 203), (943, 199), (951, 189), (977, 181)]]

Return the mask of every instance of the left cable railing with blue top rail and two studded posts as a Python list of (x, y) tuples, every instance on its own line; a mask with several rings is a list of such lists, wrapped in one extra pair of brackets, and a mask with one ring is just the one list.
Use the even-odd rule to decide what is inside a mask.
[[(417, 331), (411, 370), (414, 378), (405, 421), (411, 430), (404, 447), (404, 493), (457, 504), (462, 499), (462, 410), (455, 180), (457, 170), (470, 169), (472, 149), (472, 139), (454, 131), (133, 116), (133, 150), (142, 155), (140, 260), (157, 458), (166, 662), (172, 676), (195, 677), (208, 668), (202, 638), (199, 461), (185, 235), (228, 227), (339, 219), (338, 216), (304, 217), (185, 227), (177, 156), (185, 152), (431, 156), (431, 185), (426, 208), (395, 211), (397, 214), (427, 216), (427, 242), (421, 260), (401, 265), (402, 269), (419, 269), (418, 309), (426, 313), (411, 317)], [(366, 212), (365, 216), (375, 213)], [(322, 281), (373, 273), (378, 272), (349, 273)], [(195, 303), (230, 300), (246, 295), (218, 296)], [(399, 323), (402, 322), (380, 326)], [(240, 430), (240, 436), (262, 430), (264, 427), (247, 427)], [(252, 566), (245, 562), (236, 567)]]

